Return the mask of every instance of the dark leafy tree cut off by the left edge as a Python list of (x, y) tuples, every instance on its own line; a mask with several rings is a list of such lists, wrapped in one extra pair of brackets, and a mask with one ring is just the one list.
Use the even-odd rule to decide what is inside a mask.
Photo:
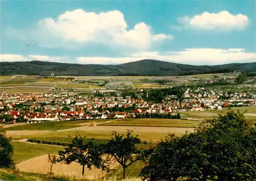
[(14, 168), (12, 156), (11, 138), (6, 137), (6, 132), (0, 126), (0, 168)]

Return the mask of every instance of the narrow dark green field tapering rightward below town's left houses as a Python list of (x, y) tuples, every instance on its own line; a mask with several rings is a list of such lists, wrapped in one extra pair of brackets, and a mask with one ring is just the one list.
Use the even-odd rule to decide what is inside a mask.
[(29, 123), (25, 125), (18, 125), (5, 128), (6, 131), (20, 131), (20, 130), (63, 130), (71, 129), (84, 125), (89, 125), (91, 122), (103, 122), (102, 120), (82, 120), (82, 121), (49, 121), (45, 123)]

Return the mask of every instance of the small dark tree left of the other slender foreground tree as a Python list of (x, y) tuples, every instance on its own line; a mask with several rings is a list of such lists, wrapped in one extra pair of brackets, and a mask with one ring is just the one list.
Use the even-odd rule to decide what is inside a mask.
[(59, 151), (59, 162), (71, 164), (77, 162), (82, 166), (82, 176), (84, 176), (84, 168), (87, 166), (89, 170), (92, 167), (106, 169), (104, 160), (101, 158), (102, 150), (99, 145), (93, 144), (92, 141), (87, 142), (86, 137), (76, 135), (72, 139), (72, 143), (65, 147), (64, 151)]

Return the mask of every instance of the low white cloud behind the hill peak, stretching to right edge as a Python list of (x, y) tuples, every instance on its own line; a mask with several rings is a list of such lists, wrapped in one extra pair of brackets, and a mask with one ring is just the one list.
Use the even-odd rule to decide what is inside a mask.
[(77, 62), (83, 64), (121, 64), (142, 59), (156, 59), (168, 62), (187, 64), (224, 64), (231, 62), (256, 61), (256, 53), (245, 52), (245, 49), (185, 49), (176, 52), (140, 52), (130, 57), (78, 57)]

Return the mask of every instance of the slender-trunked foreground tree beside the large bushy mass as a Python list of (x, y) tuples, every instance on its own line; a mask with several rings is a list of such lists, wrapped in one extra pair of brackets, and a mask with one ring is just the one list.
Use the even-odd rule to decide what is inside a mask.
[(127, 130), (126, 137), (113, 131), (114, 138), (104, 145), (104, 153), (111, 155), (123, 168), (123, 178), (126, 177), (126, 169), (139, 160), (140, 150), (137, 144), (141, 143), (138, 135), (134, 137), (132, 130)]

